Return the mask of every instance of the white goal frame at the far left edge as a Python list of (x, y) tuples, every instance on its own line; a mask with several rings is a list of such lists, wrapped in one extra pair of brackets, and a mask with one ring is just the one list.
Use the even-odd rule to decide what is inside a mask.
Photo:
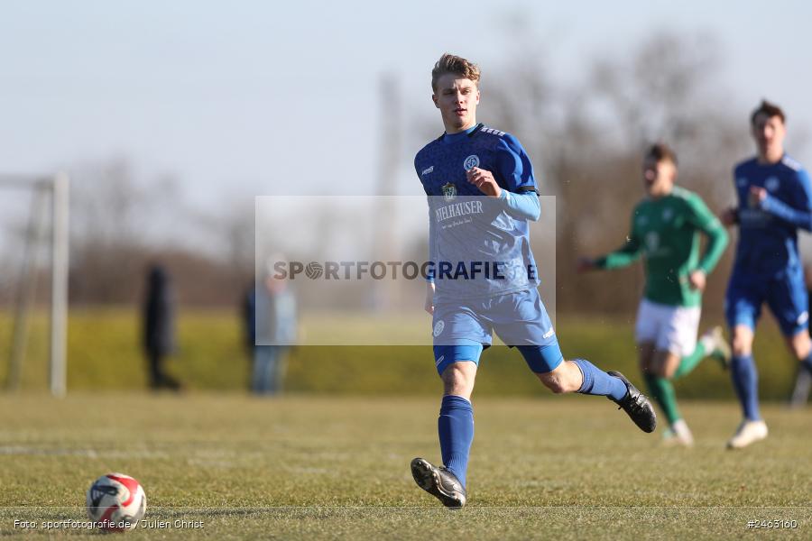
[[(6, 380), (9, 390), (18, 389), (20, 385), (30, 311), (36, 295), (37, 256), (42, 251), (41, 244), (50, 240), (48, 384), (55, 397), (63, 397), (67, 392), (69, 185), (69, 177), (63, 172), (52, 176), (0, 174), (0, 189), (26, 190), (33, 197), (24, 239), (23, 261), (19, 270), (20, 279), (14, 296), (14, 332)], [(51, 216), (50, 239), (46, 239), (44, 234), (48, 215)]]

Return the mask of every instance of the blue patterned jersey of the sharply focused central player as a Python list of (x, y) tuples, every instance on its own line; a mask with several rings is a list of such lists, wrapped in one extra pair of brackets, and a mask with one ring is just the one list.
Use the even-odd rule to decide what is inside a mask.
[[(528, 222), (516, 211), (528, 194), (538, 209), (536, 181), (515, 137), (484, 124), (444, 133), (418, 152), (414, 167), (429, 196), (429, 259), (438, 301), (538, 287)], [(493, 173), (503, 197), (486, 197), (467, 181), (466, 170), (474, 167)]]

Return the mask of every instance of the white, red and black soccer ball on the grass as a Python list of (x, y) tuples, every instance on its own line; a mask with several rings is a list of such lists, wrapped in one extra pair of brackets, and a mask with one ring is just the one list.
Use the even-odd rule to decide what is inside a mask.
[(88, 517), (105, 531), (134, 529), (146, 510), (141, 483), (124, 473), (107, 473), (88, 489)]

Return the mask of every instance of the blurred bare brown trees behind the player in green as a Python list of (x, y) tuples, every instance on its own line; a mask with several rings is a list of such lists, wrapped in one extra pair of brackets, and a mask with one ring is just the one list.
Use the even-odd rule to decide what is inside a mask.
[[(578, 257), (623, 244), (644, 195), (641, 160), (652, 142), (677, 151), (678, 185), (696, 191), (712, 211), (734, 204), (733, 168), (754, 154), (749, 115), (757, 104), (734, 103), (719, 77), (720, 46), (701, 34), (654, 34), (627, 58), (595, 60), (586, 84), (577, 87), (559, 84), (543, 53), (528, 53), (530, 44), (520, 40), (519, 47), (523, 52), (512, 58), (520, 61), (484, 67), (479, 120), (517, 134), (541, 193), (557, 196), (558, 313), (632, 315), (643, 286), (641, 264), (577, 275)], [(798, 126), (789, 130), (791, 153), (805, 137)], [(710, 314), (722, 312), (736, 240), (731, 233), (708, 280)]]

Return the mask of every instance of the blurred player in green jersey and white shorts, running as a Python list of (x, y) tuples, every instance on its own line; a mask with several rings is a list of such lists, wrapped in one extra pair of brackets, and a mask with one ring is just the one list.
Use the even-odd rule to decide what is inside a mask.
[[(727, 246), (724, 227), (697, 194), (674, 186), (677, 157), (665, 144), (652, 145), (643, 160), (645, 197), (632, 213), (631, 233), (622, 248), (584, 258), (579, 271), (617, 269), (645, 254), (646, 287), (637, 313), (635, 340), (651, 396), (669, 420), (667, 443), (692, 445), (670, 380), (681, 378), (707, 355), (727, 361), (730, 350), (715, 327), (697, 343), (706, 276)], [(708, 245), (701, 261), (699, 234)]]

